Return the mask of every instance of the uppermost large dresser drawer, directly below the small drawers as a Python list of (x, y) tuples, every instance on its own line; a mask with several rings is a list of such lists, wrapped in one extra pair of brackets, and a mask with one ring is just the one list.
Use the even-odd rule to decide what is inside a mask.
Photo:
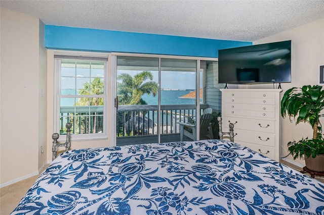
[(222, 126), (224, 131), (228, 130), (229, 123), (234, 124), (234, 132), (236, 129), (244, 129), (257, 132), (275, 132), (275, 121), (273, 120), (260, 120), (260, 119), (249, 119), (239, 117), (223, 117)]

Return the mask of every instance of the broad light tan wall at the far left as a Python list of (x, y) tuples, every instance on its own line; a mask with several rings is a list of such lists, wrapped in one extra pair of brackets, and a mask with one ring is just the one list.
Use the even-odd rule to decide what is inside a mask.
[[(38, 173), (39, 20), (1, 8), (0, 184)], [(41, 130), (41, 132), (44, 130)]]

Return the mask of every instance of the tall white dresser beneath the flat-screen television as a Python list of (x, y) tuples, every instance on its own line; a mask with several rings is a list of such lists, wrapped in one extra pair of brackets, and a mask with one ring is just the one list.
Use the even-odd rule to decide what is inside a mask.
[(280, 162), (281, 89), (221, 89), (223, 131), (234, 124), (234, 142)]

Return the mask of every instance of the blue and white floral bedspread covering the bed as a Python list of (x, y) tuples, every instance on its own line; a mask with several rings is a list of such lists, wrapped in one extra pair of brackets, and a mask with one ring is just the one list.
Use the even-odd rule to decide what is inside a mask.
[(324, 214), (324, 184), (224, 141), (71, 150), (12, 214)]

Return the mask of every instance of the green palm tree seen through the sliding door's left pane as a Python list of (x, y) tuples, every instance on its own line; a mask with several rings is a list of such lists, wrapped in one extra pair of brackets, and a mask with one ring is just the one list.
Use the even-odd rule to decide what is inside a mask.
[[(146, 80), (151, 80), (147, 81)], [(117, 83), (117, 94), (120, 104), (147, 104), (142, 99), (142, 95), (147, 93), (156, 96), (158, 87), (157, 83), (153, 80), (153, 75), (149, 71), (143, 71), (132, 77), (130, 74), (122, 73), (118, 75), (117, 80), (121, 80), (121, 83)], [(144, 83), (143, 83), (144, 82)]]

